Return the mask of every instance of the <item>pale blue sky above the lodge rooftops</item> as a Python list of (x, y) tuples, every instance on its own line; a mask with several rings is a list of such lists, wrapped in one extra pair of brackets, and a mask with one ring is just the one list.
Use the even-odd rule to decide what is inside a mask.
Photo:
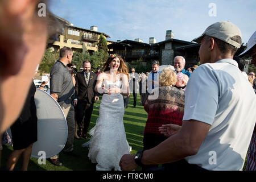
[[(216, 16), (209, 16), (210, 3), (216, 5)], [(210, 24), (229, 20), (242, 32), (247, 42), (256, 30), (255, 0), (51, 0), (52, 13), (67, 19), (74, 26), (97, 26), (108, 34), (108, 40), (165, 40), (166, 30), (175, 39), (191, 41)]]

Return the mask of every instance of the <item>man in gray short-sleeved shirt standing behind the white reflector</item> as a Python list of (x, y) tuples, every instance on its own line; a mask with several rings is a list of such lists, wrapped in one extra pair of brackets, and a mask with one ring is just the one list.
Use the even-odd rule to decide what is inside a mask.
[[(71, 96), (75, 94), (75, 88), (67, 64), (72, 61), (73, 52), (69, 47), (60, 49), (60, 59), (53, 65), (50, 73), (51, 96), (61, 106), (68, 125), (68, 139), (64, 147), (64, 154), (79, 156), (73, 150), (73, 140), (75, 137), (75, 109), (71, 105)], [(75, 101), (76, 102), (76, 101)], [(62, 166), (59, 155), (53, 156), (50, 162), (55, 166)]]

